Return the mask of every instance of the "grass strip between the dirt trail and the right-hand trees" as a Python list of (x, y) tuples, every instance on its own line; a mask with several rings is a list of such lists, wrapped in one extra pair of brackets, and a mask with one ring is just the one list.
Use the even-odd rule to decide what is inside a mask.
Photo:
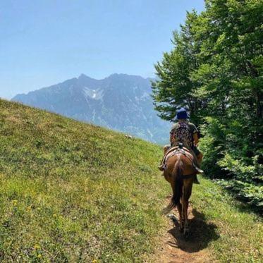
[(261, 262), (262, 217), (255, 216), (246, 204), (234, 200), (220, 186), (204, 178), (200, 178), (200, 185), (194, 185), (192, 206), (197, 212), (204, 211), (204, 220), (208, 224), (200, 229), (200, 235), (204, 235), (202, 232), (219, 234), (219, 240), (209, 245), (219, 262)]

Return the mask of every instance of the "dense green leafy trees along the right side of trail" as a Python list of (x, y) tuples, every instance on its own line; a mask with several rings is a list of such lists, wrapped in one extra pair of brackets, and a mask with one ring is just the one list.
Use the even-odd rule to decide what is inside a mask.
[[(187, 106), (202, 130), (204, 168), (262, 209), (263, 2), (207, 0), (187, 13), (152, 85), (161, 118)], [(250, 184), (254, 191), (247, 190)]]

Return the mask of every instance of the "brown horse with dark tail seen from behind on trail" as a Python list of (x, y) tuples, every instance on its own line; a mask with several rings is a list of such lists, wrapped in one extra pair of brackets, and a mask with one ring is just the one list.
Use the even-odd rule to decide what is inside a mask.
[(192, 194), (194, 176), (197, 174), (197, 170), (192, 165), (193, 156), (188, 149), (177, 147), (173, 151), (169, 150), (165, 159), (164, 177), (166, 181), (171, 183), (173, 196), (171, 197), (171, 203), (164, 212), (167, 213), (173, 207), (177, 207), (181, 231), (185, 236), (188, 236), (188, 203)]

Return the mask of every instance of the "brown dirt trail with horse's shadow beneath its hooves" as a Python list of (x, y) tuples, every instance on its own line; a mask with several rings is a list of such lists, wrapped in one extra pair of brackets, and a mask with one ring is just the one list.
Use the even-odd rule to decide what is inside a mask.
[[(178, 212), (173, 210), (178, 219)], [(218, 238), (216, 226), (207, 224), (204, 216), (192, 207), (189, 207), (190, 236), (185, 239), (179, 231), (178, 222), (167, 218), (167, 228), (157, 247), (156, 262), (160, 263), (187, 263), (187, 262), (215, 262), (209, 255), (207, 245), (209, 241)]]

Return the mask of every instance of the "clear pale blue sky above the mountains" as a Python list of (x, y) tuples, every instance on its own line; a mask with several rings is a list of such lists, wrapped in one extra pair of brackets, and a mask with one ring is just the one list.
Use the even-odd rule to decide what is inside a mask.
[(1, 0), (0, 97), (80, 73), (153, 77), (192, 8), (203, 0)]

